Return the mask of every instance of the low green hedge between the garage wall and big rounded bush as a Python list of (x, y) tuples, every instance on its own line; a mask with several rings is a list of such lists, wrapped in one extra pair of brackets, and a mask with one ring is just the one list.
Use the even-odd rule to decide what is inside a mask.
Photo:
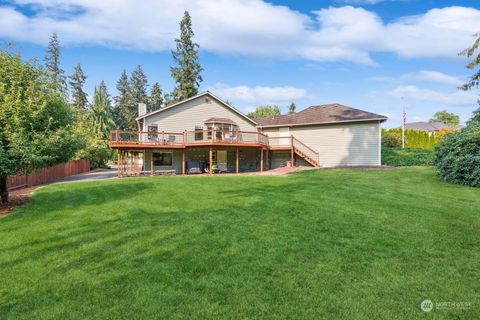
[(382, 164), (394, 167), (431, 166), (432, 151), (420, 148), (382, 148)]

